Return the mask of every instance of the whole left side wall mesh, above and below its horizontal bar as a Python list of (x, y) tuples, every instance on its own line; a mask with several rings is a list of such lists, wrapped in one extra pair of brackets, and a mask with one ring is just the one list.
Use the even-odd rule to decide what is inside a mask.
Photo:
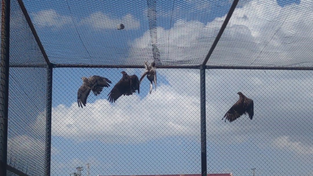
[[(17, 1), (11, 1), (10, 29), (10, 65), (44, 64)], [(30, 176), (44, 175), (46, 168), (46, 70), (9, 70), (7, 163)], [(8, 171), (8, 175), (12, 174)]]

